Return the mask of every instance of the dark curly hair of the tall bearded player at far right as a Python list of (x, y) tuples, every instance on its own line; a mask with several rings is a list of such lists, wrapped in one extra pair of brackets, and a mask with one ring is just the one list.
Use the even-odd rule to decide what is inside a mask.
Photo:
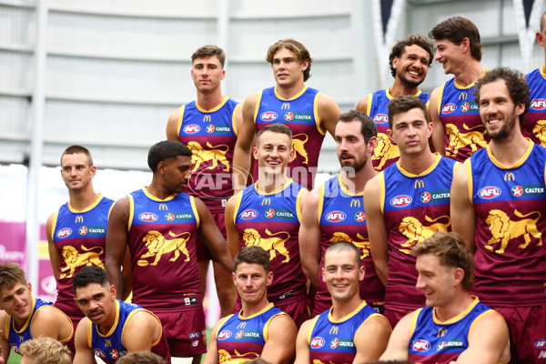
[(480, 90), (481, 86), (495, 82), (498, 79), (503, 79), (508, 88), (511, 100), (514, 105), (523, 104), (525, 110), (520, 116), (520, 125), (525, 123), (527, 112), (531, 106), (529, 86), (525, 82), (525, 76), (517, 69), (509, 67), (496, 67), (487, 72), (483, 77), (476, 81), (476, 89), (474, 90), (474, 99), (480, 105)]

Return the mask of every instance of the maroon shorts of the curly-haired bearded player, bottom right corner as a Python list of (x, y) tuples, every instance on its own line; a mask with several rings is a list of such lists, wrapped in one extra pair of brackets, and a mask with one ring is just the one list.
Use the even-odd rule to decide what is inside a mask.
[(546, 363), (546, 305), (491, 307), (499, 312), (510, 332), (511, 363)]

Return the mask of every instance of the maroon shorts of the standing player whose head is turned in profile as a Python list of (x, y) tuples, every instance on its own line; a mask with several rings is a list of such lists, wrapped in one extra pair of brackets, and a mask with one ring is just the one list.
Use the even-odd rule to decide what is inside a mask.
[[(207, 331), (203, 308), (187, 311), (155, 312), (171, 354), (192, 357), (207, 352)], [(177, 356), (174, 355), (174, 356)]]

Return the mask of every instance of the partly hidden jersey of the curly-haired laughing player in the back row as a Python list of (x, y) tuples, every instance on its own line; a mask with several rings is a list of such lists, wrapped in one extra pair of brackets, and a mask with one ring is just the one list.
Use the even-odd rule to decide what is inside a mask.
[[(429, 102), (430, 96), (419, 90), (416, 95), (426, 105)], [(373, 167), (379, 172), (389, 167), (396, 162), (400, 157), (399, 147), (396, 144), (390, 143), (387, 130), (389, 130), (389, 113), (387, 106), (389, 105), (392, 96), (389, 89), (379, 90), (368, 96), (368, 109), (366, 115), (375, 121), (378, 127), (378, 145), (373, 150), (371, 162)]]

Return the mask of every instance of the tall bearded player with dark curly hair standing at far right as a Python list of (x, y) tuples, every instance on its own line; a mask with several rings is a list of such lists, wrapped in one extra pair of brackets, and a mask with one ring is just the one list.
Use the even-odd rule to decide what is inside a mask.
[(453, 230), (474, 251), (473, 292), (506, 319), (514, 362), (546, 363), (546, 148), (522, 135), (530, 101), (519, 71), (495, 68), (476, 86), (491, 141), (453, 180)]

